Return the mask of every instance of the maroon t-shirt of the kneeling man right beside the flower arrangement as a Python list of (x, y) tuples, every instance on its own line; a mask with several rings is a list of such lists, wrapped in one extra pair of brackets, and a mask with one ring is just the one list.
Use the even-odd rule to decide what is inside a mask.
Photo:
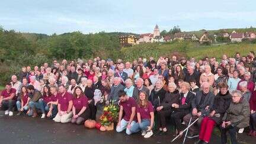
[[(136, 101), (134, 98), (130, 97), (127, 101), (121, 101), (120, 105), (123, 106), (123, 111), (124, 111), (124, 117), (123, 119), (126, 121), (130, 120), (130, 116), (132, 114), (132, 107), (136, 107)], [(136, 116), (133, 119), (136, 121)]]

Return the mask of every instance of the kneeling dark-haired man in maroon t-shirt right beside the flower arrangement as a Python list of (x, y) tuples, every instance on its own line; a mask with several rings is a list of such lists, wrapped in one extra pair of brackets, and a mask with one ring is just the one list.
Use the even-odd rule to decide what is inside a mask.
[(134, 98), (126, 95), (126, 93), (123, 90), (119, 91), (119, 100), (119, 122), (117, 123), (116, 131), (122, 132), (124, 129), (126, 129), (127, 135), (131, 135), (132, 132), (130, 131), (130, 129), (136, 123), (136, 101)]

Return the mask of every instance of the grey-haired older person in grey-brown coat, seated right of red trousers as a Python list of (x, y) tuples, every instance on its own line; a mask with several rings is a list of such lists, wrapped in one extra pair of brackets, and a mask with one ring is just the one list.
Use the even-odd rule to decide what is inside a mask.
[(242, 98), (241, 91), (232, 91), (231, 95), (232, 102), (222, 119), (222, 144), (228, 142), (226, 132), (229, 132), (232, 144), (238, 143), (238, 140), (236, 139), (237, 130), (249, 126), (249, 103), (244, 98)]

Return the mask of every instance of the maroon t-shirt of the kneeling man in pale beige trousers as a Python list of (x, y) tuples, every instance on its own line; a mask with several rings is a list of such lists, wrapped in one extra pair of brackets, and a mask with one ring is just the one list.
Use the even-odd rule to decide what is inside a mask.
[(62, 97), (62, 94), (57, 94), (57, 100), (59, 100), (58, 103), (60, 104), (60, 110), (67, 111), (69, 101), (72, 101), (72, 99), (73, 99), (73, 95), (70, 94), (69, 92), (65, 92), (63, 97)]

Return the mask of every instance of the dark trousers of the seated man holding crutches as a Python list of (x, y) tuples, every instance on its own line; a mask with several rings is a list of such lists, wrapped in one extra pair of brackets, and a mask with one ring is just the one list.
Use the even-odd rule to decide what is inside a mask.
[[(196, 120), (198, 118), (198, 116), (191, 116), (191, 114), (187, 114), (183, 120), (185, 122), (185, 124), (188, 126), (188, 123), (190, 121), (190, 117), (192, 117), (191, 119), (191, 123), (193, 123), (194, 120)], [(190, 126), (189, 128), (189, 132), (192, 135), (197, 135), (199, 133), (199, 129), (200, 129), (200, 125), (201, 125), (201, 121), (203, 120), (203, 117), (200, 117), (199, 120), (197, 121), (197, 123), (194, 123), (192, 126)]]

